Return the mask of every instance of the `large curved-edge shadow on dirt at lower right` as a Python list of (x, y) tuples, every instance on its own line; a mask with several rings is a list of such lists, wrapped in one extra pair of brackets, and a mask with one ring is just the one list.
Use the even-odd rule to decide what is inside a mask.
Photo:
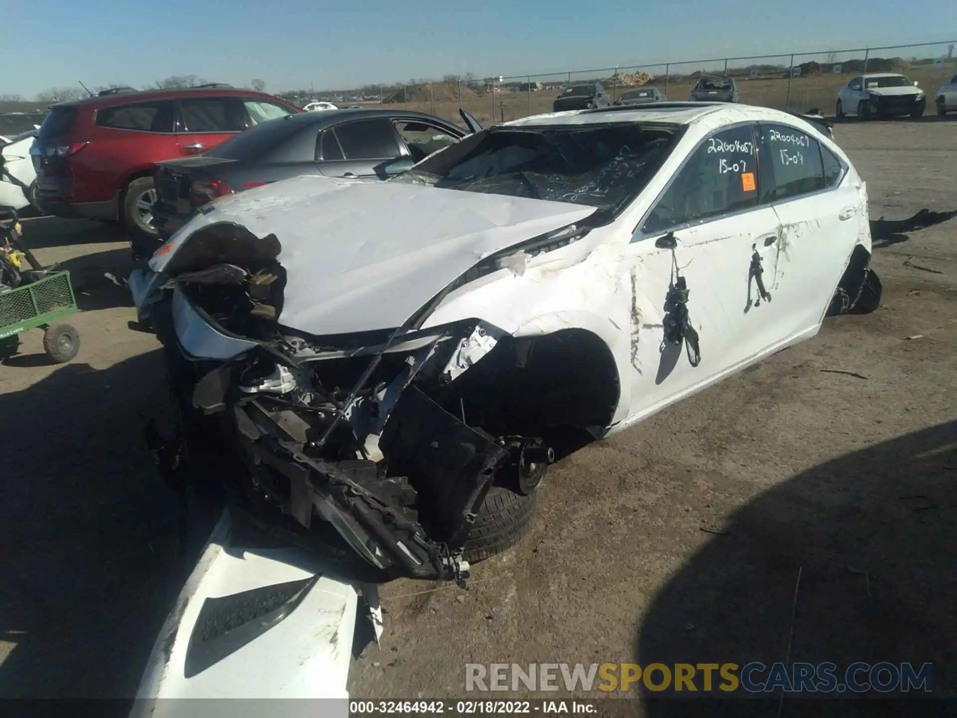
[[(792, 630), (791, 662), (835, 662), (839, 679), (857, 661), (932, 662), (934, 697), (952, 699), (955, 480), (952, 421), (815, 466), (769, 490), (731, 516), (724, 535), (715, 535), (657, 595), (642, 619), (637, 662), (770, 665), (786, 660)], [(701, 690), (701, 675), (698, 681)], [(779, 700), (778, 692), (772, 706), (752, 713), (756, 702), (679, 696), (689, 694), (650, 704), (648, 715), (774, 715)], [(901, 701), (896, 708), (869, 706), (875, 714), (915, 714), (900, 712)], [(858, 714), (843, 701), (827, 707)], [(799, 713), (788, 696), (781, 715)]]

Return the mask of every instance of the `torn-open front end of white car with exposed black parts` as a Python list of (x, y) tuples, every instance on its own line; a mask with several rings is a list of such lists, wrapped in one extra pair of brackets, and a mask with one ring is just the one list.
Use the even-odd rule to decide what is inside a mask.
[(173, 282), (205, 323), (253, 343), (225, 362), (185, 350), (173, 302), (154, 304), (181, 416), (175, 437), (151, 435), (167, 482), (214, 484), (316, 550), (338, 536), (340, 550), (345, 540), (389, 574), (462, 580), (470, 552), (496, 552), (475, 541), (473, 528), (502, 520), (487, 515), (490, 507), (529, 520), (554, 456), (542, 438), (466, 423), (456, 381), (501, 332), (471, 320), (309, 337), (273, 319), (281, 308), (275, 270), (224, 264)]

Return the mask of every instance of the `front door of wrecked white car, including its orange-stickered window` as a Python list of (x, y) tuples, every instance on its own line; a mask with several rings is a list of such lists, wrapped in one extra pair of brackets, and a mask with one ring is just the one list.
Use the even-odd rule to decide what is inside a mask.
[[(721, 378), (781, 339), (777, 302), (763, 302), (753, 276), (756, 247), (777, 236), (774, 211), (758, 205), (753, 123), (719, 130), (693, 150), (635, 230), (632, 290), (632, 405), (629, 423)], [(665, 246), (674, 237), (674, 251)], [(677, 271), (698, 334), (693, 350), (666, 341), (677, 315), (668, 303)]]

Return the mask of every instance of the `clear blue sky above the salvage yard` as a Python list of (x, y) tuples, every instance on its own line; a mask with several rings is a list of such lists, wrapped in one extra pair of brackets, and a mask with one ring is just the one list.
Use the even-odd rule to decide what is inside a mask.
[(139, 87), (170, 75), (318, 90), (936, 41), (957, 36), (954, 8), (953, 0), (0, 0), (0, 94), (32, 99), (78, 79)]

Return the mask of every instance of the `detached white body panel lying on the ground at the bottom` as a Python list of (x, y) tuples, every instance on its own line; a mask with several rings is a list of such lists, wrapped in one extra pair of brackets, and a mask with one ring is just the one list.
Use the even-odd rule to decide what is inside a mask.
[[(131, 718), (267, 714), (263, 709), (283, 717), (347, 715), (356, 588), (329, 577), (322, 560), (303, 550), (237, 550), (230, 531), (226, 512), (156, 640)], [(189, 638), (207, 598), (317, 574), (287, 617), (197, 675), (185, 676)]]

